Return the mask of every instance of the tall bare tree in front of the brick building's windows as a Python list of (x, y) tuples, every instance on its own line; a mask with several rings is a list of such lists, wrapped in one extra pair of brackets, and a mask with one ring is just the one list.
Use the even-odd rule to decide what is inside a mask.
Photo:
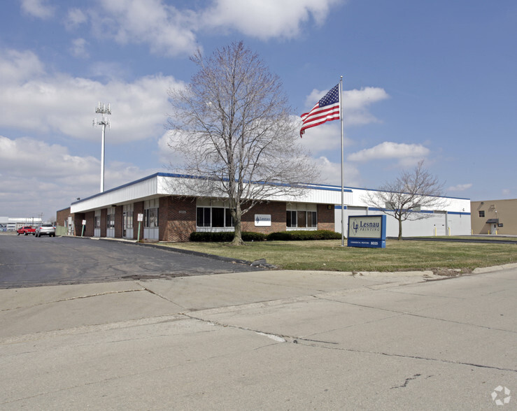
[(228, 201), (232, 244), (240, 245), (243, 214), (281, 194), (299, 196), (318, 172), (278, 76), (257, 54), (239, 42), (191, 60), (199, 71), (190, 84), (169, 90), (169, 146), (184, 160), (176, 168), (193, 176), (185, 180), (191, 192)]

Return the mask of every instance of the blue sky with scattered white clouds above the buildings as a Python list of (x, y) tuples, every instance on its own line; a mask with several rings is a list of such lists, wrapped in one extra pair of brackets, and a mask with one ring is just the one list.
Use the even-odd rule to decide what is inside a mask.
[[(517, 198), (517, 2), (20, 0), (0, 15), (0, 215), (55, 216), (99, 192), (98, 101), (110, 189), (167, 171), (167, 90), (195, 48), (244, 41), (294, 113), (344, 76), (345, 184), (376, 188), (420, 159), (449, 196)], [(340, 185), (339, 122), (302, 144)]]

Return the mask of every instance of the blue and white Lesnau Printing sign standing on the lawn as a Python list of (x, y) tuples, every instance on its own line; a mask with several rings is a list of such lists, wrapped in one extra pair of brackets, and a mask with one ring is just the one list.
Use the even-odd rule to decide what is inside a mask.
[(350, 215), (348, 247), (386, 247), (385, 215)]

